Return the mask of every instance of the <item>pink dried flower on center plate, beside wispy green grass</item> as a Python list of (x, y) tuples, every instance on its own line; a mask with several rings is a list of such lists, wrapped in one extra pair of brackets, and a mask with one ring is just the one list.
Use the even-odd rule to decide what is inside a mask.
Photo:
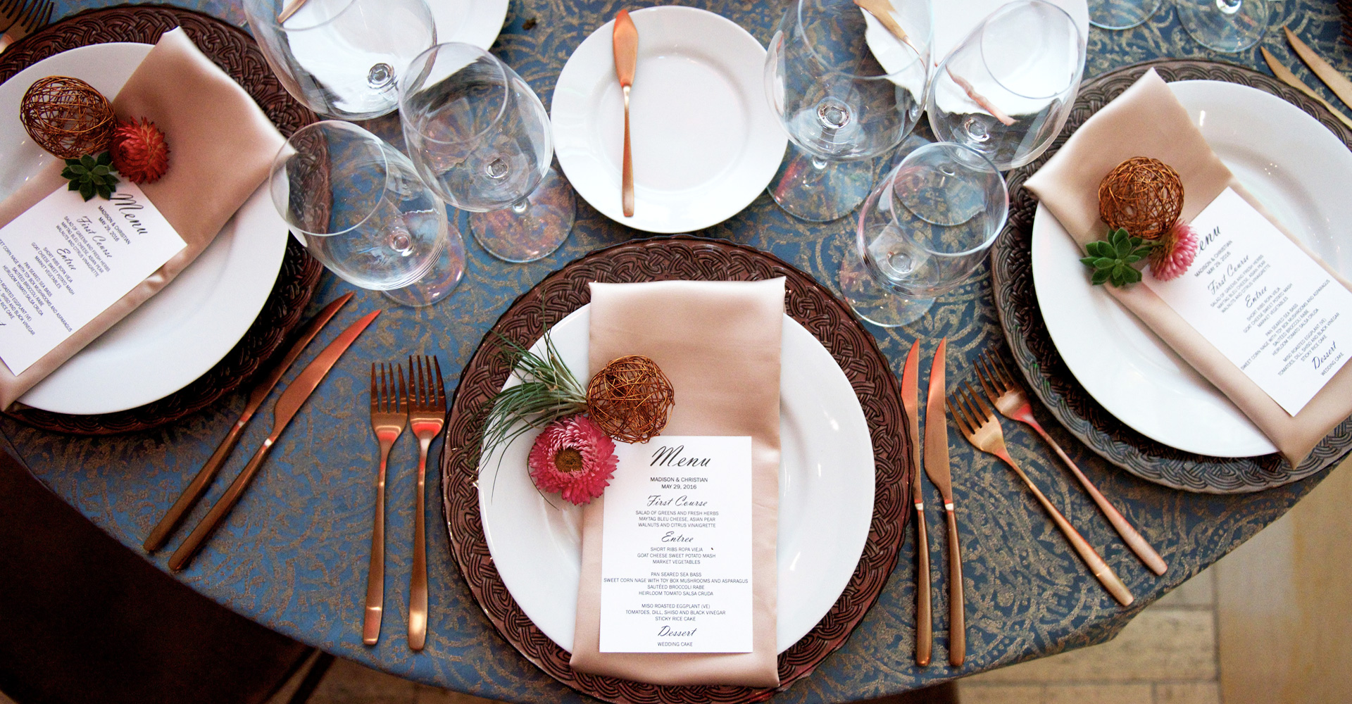
[(535, 486), (560, 492), (575, 504), (589, 504), (615, 474), (615, 442), (589, 418), (576, 415), (556, 420), (530, 449), (530, 476)]

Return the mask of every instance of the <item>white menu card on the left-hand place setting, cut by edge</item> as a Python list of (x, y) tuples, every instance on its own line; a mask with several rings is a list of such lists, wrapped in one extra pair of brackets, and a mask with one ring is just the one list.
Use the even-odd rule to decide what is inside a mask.
[(128, 181), (42, 199), (0, 228), (0, 361), (22, 374), (187, 246)]

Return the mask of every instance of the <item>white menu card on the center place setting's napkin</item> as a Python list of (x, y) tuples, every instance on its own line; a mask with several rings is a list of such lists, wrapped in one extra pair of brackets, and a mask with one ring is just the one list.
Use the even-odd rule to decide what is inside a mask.
[(752, 439), (615, 443), (602, 653), (752, 651)]

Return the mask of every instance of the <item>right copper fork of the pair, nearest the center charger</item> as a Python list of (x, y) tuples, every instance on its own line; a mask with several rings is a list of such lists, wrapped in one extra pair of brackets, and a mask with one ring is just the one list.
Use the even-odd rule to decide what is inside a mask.
[(427, 526), (423, 522), (427, 447), (446, 423), (446, 386), (435, 357), (408, 358), (408, 427), (418, 438), (418, 497), (414, 508), (414, 573), (408, 582), (408, 647), (427, 642)]

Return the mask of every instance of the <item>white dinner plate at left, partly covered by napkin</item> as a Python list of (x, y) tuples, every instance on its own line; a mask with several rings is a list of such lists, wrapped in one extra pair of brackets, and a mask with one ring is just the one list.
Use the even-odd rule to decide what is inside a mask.
[[(111, 99), (149, 53), (150, 45), (141, 43), (84, 46), (0, 85), (0, 196), (54, 159), (19, 123), (19, 101), (32, 81), (74, 76)], [(19, 400), (57, 413), (111, 413), (187, 386), (258, 318), (285, 251), (287, 223), (260, 186), (177, 278)]]

